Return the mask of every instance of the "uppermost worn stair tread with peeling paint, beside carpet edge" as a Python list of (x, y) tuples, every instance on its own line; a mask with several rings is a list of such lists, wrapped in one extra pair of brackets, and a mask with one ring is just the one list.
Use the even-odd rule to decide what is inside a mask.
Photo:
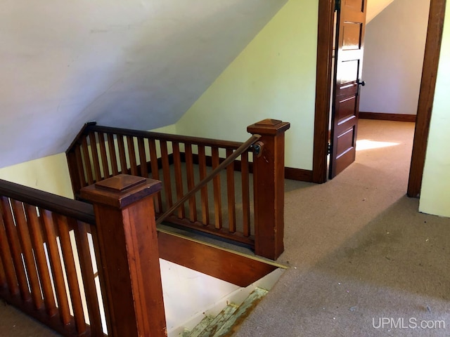
[(242, 324), (244, 319), (250, 315), (250, 312), (253, 308), (259, 303), (260, 300), (268, 293), (265, 289), (256, 288), (250, 295), (245, 298), (243, 303), (239, 306), (239, 308), (231, 315), (231, 317), (226, 320), (224, 325), (222, 325), (214, 335), (210, 335), (213, 337), (224, 337), (231, 336), (231, 334), (236, 331), (236, 328)]

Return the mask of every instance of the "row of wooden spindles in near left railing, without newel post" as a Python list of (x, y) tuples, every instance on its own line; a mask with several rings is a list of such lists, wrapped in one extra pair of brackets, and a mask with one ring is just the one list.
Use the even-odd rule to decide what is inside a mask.
[(0, 296), (64, 336), (104, 336), (89, 232), (82, 220), (0, 195)]

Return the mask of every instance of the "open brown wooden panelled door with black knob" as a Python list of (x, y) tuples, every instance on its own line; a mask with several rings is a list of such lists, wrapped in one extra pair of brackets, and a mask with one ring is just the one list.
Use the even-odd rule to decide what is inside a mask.
[(335, 86), (331, 119), (329, 178), (334, 178), (356, 156), (367, 0), (342, 0), (336, 21)]

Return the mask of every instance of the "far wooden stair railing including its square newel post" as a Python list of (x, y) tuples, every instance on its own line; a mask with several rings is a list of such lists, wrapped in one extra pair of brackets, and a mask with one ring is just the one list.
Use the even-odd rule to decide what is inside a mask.
[[(249, 147), (176, 209), (167, 223), (248, 245), (259, 256), (278, 258), (283, 252), (284, 133), (289, 127), (274, 119), (249, 126), (248, 132), (261, 136), (261, 156), (253, 156)], [(162, 190), (155, 197), (158, 218), (241, 145), (90, 123), (66, 155), (77, 198), (82, 187), (120, 173), (161, 180)]]

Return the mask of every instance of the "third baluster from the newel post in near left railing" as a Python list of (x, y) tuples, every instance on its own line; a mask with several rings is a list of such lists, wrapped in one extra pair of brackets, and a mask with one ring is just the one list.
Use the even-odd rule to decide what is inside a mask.
[(64, 325), (68, 325), (71, 322), (69, 300), (65, 291), (63, 265), (61, 264), (58, 243), (56, 242), (58, 235), (56, 233), (55, 222), (53, 220), (53, 213), (51, 213), (51, 211), (47, 211), (46, 209), (39, 209), (39, 213), (43, 219), (45, 242), (47, 245), (47, 253), (49, 254), (56, 298), (58, 300), (60, 319)]

